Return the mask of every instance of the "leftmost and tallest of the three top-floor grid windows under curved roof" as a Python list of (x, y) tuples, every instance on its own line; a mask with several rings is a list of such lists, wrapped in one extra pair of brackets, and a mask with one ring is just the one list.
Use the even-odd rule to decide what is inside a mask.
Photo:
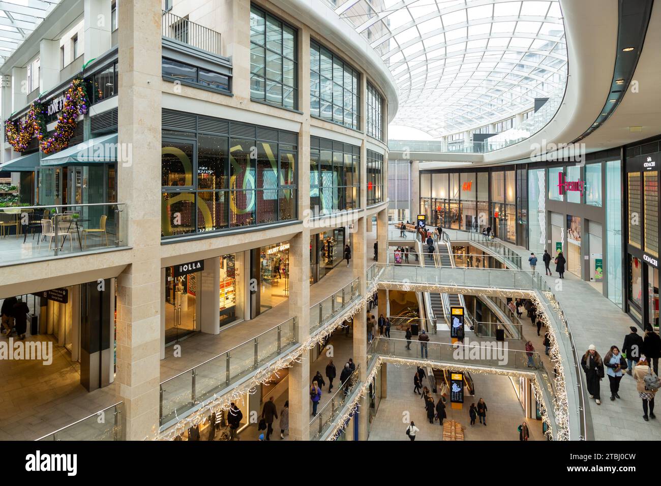
[(297, 30), (251, 5), (251, 98), (298, 106)]

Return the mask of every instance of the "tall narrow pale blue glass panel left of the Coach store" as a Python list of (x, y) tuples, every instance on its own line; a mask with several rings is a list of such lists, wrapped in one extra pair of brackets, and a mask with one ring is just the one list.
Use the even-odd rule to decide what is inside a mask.
[(622, 189), (621, 162), (606, 162), (606, 272), (607, 296), (622, 307)]

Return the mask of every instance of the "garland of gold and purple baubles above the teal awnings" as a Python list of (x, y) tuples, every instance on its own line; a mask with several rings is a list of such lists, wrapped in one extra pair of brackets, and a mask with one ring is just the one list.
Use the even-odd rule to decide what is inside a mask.
[(46, 111), (39, 99), (30, 105), (24, 122), (17, 123), (9, 119), (5, 121), (5, 136), (15, 151), (25, 151), (33, 136), (38, 138), (40, 149), (44, 153), (59, 151), (69, 146), (69, 141), (76, 128), (78, 114), (87, 113), (87, 96), (83, 79), (81, 77), (73, 79), (64, 96), (65, 102), (55, 125), (55, 132), (49, 138), (44, 135), (46, 133), (46, 123), (44, 122)]

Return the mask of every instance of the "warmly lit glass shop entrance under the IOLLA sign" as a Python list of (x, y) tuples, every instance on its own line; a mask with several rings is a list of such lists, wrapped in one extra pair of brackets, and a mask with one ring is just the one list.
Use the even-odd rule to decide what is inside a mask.
[(178, 267), (165, 268), (166, 346), (200, 331), (197, 318), (200, 272), (177, 275), (175, 268)]

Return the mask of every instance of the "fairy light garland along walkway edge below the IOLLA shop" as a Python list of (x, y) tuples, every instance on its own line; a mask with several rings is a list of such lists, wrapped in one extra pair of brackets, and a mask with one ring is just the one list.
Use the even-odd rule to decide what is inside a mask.
[(161, 434), (161, 432), (156, 430), (153, 440), (175, 440), (176, 436), (182, 434), (186, 429), (206, 424), (212, 413), (229, 410), (232, 402), (242, 400), (246, 394), (252, 395), (253, 393), (256, 393), (256, 388), (259, 385), (268, 382), (272, 376), (275, 375), (279, 378), (278, 372), (281, 372), (286, 368), (292, 368), (295, 363), (301, 363), (301, 356), (304, 352), (308, 352), (317, 346), (317, 344), (325, 343), (327, 337), (329, 337), (329, 335), (331, 335), (336, 329), (339, 327), (345, 327), (342, 325), (344, 321), (353, 319), (355, 315), (362, 311), (362, 309), (373, 300), (377, 286), (378, 280), (377, 276), (375, 276), (368, 282), (366, 294), (362, 296), (356, 304), (350, 306), (344, 313), (340, 313), (332, 319), (331, 323), (323, 328), (323, 331), (309, 337), (305, 343), (290, 352), (290, 354), (283, 356), (265, 368), (257, 370), (253, 378), (243, 384), (237, 385), (232, 391), (223, 393), (221, 397), (214, 396), (214, 398), (209, 403), (206, 403), (204, 407), (178, 421), (178, 423), (173, 426), (173, 430), (167, 434)]

